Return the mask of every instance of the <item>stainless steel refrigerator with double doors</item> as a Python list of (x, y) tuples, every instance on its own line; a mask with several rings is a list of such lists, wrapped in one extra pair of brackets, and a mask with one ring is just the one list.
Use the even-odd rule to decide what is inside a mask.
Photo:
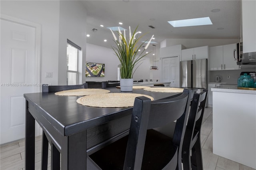
[(180, 61), (180, 87), (207, 89), (207, 59)]

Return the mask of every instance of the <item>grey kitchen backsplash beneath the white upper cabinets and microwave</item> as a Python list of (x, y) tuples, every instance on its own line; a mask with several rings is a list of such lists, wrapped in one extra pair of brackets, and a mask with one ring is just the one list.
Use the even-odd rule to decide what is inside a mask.
[[(237, 79), (240, 77), (242, 71), (256, 71), (256, 68), (242, 68), (240, 70), (219, 70), (219, 71), (210, 71), (210, 82), (215, 82), (215, 77), (220, 76), (222, 80), (220, 83), (232, 83), (237, 84)], [(228, 76), (230, 77), (228, 79)], [(209, 83), (210, 83), (209, 82)]]

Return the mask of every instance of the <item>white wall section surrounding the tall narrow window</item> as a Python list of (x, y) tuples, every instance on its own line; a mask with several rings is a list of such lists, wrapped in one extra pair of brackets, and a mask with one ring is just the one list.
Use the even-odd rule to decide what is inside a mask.
[(60, 1), (59, 35), (58, 85), (67, 85), (67, 39), (82, 48), (78, 65), (78, 84), (82, 84), (86, 62), (86, 10), (82, 2)]

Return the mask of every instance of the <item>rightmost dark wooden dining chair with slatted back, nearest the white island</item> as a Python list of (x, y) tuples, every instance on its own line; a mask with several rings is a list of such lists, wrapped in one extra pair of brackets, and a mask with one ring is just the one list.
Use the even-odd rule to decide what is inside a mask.
[(182, 146), (184, 170), (203, 170), (200, 134), (207, 93), (204, 89), (200, 94), (195, 93), (192, 99)]

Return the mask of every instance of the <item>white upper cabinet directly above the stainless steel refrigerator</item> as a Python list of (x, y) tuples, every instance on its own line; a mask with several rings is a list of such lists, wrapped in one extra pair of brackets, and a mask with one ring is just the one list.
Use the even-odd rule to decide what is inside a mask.
[(181, 50), (181, 61), (194, 59), (208, 59), (208, 46)]

